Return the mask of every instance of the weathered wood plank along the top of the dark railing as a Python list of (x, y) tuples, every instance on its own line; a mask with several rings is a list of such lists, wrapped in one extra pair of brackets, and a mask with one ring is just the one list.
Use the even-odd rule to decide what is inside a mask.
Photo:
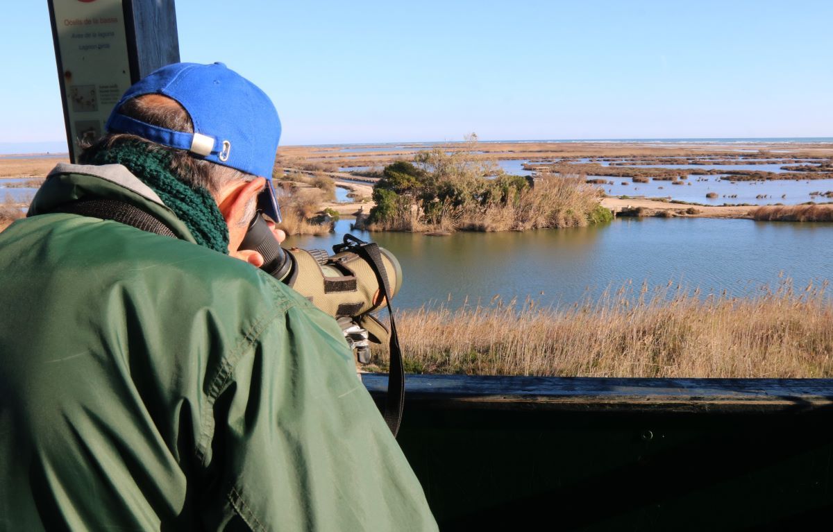
[[(387, 375), (362, 375), (381, 398)], [(500, 410), (814, 410), (833, 406), (831, 379), (618, 379), (407, 375), (406, 405)]]

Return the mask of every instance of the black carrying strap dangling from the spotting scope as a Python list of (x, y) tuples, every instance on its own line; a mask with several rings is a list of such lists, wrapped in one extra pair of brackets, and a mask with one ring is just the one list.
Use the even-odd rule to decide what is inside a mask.
[(365, 242), (352, 235), (344, 236), (344, 243), (333, 246), (337, 253), (343, 250), (350, 250), (361, 256), (373, 266), (379, 282), (379, 289), (387, 302), (387, 314), (391, 316), (391, 363), (387, 371), (387, 397), (385, 398), (385, 418), (388, 428), (393, 436), (399, 432), (399, 425), (402, 424), (402, 407), (405, 405), (405, 369), (402, 367), (402, 349), (399, 347), (399, 336), (397, 335), (397, 322), (393, 319), (391, 307), (391, 286), (387, 281), (387, 271), (382, 263), (382, 253), (375, 242)]

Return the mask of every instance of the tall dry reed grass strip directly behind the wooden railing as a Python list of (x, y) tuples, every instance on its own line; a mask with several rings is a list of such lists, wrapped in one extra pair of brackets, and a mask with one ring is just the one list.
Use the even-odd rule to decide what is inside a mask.
[[(407, 370), (471, 375), (831, 377), (826, 285), (701, 297), (627, 285), (567, 309), (533, 302), (397, 316)], [(380, 350), (382, 351), (382, 350)], [(387, 353), (375, 360), (385, 367)]]

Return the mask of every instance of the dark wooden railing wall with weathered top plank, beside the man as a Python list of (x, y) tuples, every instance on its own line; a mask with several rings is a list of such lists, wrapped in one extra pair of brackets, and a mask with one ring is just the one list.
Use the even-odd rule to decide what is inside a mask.
[[(387, 376), (363, 380), (382, 400)], [(833, 380), (406, 388), (399, 442), (441, 530), (801, 530), (833, 515)]]

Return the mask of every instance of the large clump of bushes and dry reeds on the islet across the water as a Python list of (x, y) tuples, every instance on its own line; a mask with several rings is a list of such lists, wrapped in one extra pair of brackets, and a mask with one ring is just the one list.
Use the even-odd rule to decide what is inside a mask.
[(522, 231), (613, 218), (583, 179), (550, 175), (532, 187), (526, 177), (506, 174), (480, 154), (470, 142), (466, 150), (434, 148), (416, 154), (414, 164), (388, 165), (373, 187), (377, 206), (367, 225), (392, 231)]

